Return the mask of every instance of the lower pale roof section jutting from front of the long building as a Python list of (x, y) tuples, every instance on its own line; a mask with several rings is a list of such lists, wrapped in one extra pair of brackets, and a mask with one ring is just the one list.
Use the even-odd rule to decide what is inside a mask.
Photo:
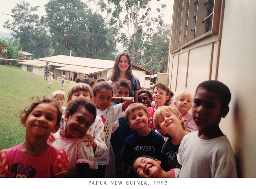
[(82, 73), (82, 74), (86, 74), (86, 75), (106, 71), (106, 69), (90, 68), (90, 67), (75, 66), (75, 65), (56, 68), (56, 69), (63, 70), (63, 71), (68, 71), (68, 72), (77, 72), (77, 73)]

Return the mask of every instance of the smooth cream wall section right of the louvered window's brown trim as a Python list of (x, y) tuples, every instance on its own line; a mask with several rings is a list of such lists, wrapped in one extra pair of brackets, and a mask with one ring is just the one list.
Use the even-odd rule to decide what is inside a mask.
[(231, 140), (243, 177), (256, 177), (256, 1), (225, 2), (218, 80), (231, 90), (221, 129)]

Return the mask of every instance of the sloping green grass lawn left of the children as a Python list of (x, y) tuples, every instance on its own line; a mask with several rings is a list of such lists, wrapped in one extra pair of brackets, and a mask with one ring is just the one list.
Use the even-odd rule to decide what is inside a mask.
[[(25, 128), (21, 125), (20, 109), (32, 103), (32, 96), (50, 98), (53, 91), (60, 90), (60, 81), (53, 80), (48, 88), (44, 76), (22, 71), (20, 67), (0, 65), (0, 150), (16, 146), (25, 140)], [(64, 92), (72, 84), (65, 83)], [(67, 106), (67, 102), (63, 106)]]

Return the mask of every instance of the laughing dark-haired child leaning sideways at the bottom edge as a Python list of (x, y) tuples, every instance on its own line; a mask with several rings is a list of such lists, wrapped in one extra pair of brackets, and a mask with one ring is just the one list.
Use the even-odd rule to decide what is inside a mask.
[(130, 166), (127, 177), (143, 178), (177, 178), (180, 169), (165, 171), (161, 168), (162, 162), (151, 156), (142, 155), (136, 158)]

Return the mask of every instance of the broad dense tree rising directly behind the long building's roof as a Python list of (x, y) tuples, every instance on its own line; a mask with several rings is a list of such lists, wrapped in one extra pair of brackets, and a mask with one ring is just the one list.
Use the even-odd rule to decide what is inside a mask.
[(100, 14), (80, 0), (51, 0), (45, 5), (54, 54), (113, 59), (115, 40)]

